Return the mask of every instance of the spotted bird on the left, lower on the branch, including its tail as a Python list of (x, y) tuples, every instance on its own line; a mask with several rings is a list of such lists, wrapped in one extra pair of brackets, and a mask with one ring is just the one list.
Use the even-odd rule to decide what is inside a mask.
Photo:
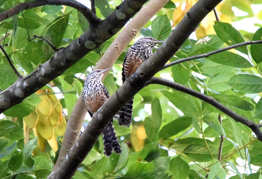
[[(83, 101), (89, 115), (93, 116), (95, 112), (104, 104), (109, 98), (107, 88), (101, 82), (105, 72), (110, 70), (97, 69), (93, 70), (87, 75), (83, 87)], [(107, 124), (103, 130), (103, 141), (104, 141), (104, 154), (110, 156), (112, 151), (117, 154), (121, 153), (121, 147), (116, 137), (116, 132), (113, 127), (113, 119)]]

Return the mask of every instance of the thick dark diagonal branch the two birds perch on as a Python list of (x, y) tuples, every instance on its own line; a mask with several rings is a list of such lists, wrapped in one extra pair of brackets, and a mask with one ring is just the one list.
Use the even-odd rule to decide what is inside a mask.
[(61, 163), (59, 170), (52, 172), (49, 178), (72, 177), (78, 166), (94, 146), (94, 143), (107, 123), (165, 65), (189, 35), (194, 32), (202, 19), (221, 1), (199, 0), (192, 6), (158, 50), (94, 113), (92, 120), (75, 145), (70, 149), (66, 159)]

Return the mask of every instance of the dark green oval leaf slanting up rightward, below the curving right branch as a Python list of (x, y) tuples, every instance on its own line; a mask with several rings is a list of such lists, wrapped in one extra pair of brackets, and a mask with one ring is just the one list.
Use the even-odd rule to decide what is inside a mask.
[(192, 124), (192, 117), (181, 117), (166, 124), (159, 132), (159, 138), (172, 137), (187, 129)]

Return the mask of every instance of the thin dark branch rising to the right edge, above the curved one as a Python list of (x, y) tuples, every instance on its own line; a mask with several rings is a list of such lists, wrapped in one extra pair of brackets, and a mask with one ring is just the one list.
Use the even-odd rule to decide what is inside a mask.
[(225, 48), (222, 48), (222, 49), (218, 49), (218, 50), (214, 50), (214, 51), (208, 52), (206, 54), (191, 56), (191, 57), (187, 57), (187, 58), (181, 58), (181, 59), (179, 59), (177, 61), (173, 61), (171, 63), (168, 63), (161, 70), (163, 70), (165, 68), (168, 68), (170, 66), (176, 65), (178, 63), (185, 62), (185, 61), (190, 61), (190, 60), (194, 60), (194, 59), (197, 59), (197, 58), (207, 58), (210, 55), (214, 55), (214, 54), (217, 54), (217, 53), (222, 52), (222, 51), (227, 51), (227, 50), (230, 50), (230, 49), (234, 49), (236, 47), (241, 47), (241, 46), (250, 45), (250, 44), (261, 44), (261, 43), (262, 43), (262, 40), (242, 42), (240, 44), (230, 45), (228, 47), (225, 47)]

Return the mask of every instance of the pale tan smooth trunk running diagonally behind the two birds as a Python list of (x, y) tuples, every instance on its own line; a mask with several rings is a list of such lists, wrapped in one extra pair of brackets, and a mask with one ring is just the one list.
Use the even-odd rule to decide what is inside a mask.
[[(102, 58), (97, 62), (95, 69), (106, 69), (114, 65), (117, 58), (121, 55), (124, 49), (136, 36), (142, 27), (168, 2), (168, 0), (151, 0), (132, 18), (132, 20), (125, 26), (119, 35), (111, 43)], [(106, 75), (105, 75), (106, 76)], [(104, 77), (105, 77), (104, 76)], [(81, 94), (82, 95), (82, 94)], [(65, 159), (67, 151), (75, 144), (78, 139), (79, 132), (84, 116), (87, 113), (82, 96), (79, 96), (75, 107), (67, 123), (67, 129), (63, 137), (62, 147), (59, 152), (58, 160), (55, 163), (53, 171), (55, 171), (62, 161)]]

